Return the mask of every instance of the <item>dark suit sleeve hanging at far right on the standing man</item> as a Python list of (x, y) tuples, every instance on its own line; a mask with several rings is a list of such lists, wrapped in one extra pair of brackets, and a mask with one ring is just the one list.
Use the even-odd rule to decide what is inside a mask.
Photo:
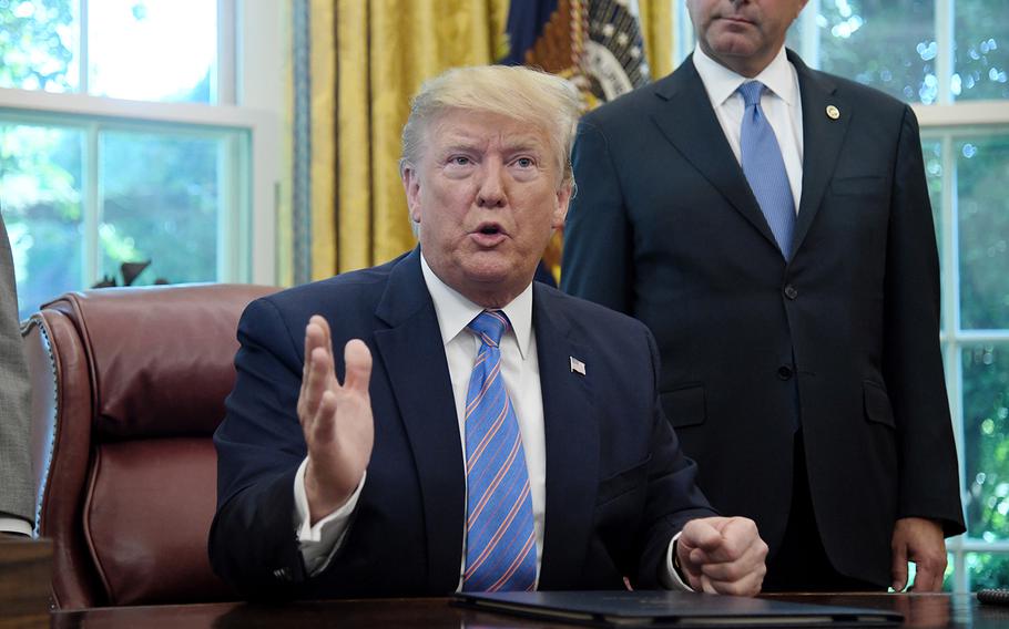
[(883, 368), (897, 425), (897, 517), (937, 519), (946, 535), (957, 535), (964, 517), (938, 343), (939, 260), (910, 107), (905, 107), (894, 168)]

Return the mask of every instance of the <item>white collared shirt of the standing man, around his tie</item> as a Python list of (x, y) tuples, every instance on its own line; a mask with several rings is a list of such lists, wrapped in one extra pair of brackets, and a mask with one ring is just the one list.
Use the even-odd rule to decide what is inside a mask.
[(803, 193), (803, 104), (798, 92), (798, 74), (795, 66), (788, 62), (785, 48), (782, 47), (771, 64), (753, 79), (736, 74), (704, 54), (701, 47), (694, 49), (694, 68), (701, 75), (701, 82), (704, 83), (725, 138), (728, 140), (736, 161), (741, 163), (740, 128), (743, 125), (746, 105), (743, 104), (743, 95), (736, 90), (748, 81), (760, 81), (767, 86), (761, 96), (761, 109), (764, 110), (764, 115), (767, 116), (782, 149), (788, 185), (792, 187), (792, 198), (795, 200), (795, 212), (798, 213), (798, 202)]

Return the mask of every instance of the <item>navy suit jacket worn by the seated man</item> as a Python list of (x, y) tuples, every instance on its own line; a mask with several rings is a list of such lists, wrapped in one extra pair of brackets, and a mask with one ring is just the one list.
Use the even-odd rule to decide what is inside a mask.
[[(305, 326), (374, 355), (375, 446), (343, 546), (307, 578), (294, 528), (306, 455), (295, 405)], [(540, 589), (655, 587), (686, 519), (713, 512), (658, 400), (658, 351), (629, 317), (533, 283), (547, 501)], [(217, 446), (214, 569), (248, 596), (445, 595), (456, 589), (466, 514), (459, 424), (419, 250), (253, 302), (238, 326), (237, 381)], [(585, 374), (570, 368), (585, 363)], [(343, 378), (343, 364), (337, 367)]]

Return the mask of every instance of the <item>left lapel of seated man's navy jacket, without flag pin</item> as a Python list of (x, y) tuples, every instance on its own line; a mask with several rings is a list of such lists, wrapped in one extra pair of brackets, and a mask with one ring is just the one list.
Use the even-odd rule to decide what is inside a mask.
[(419, 248), (393, 269), (376, 316), (389, 326), (375, 332), (375, 343), (420, 481), (428, 584), (449, 591), (459, 581), (466, 483), (451, 379)]

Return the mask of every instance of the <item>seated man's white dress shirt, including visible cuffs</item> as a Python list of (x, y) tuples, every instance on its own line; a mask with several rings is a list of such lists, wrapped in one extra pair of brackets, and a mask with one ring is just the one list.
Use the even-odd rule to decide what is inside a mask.
[[(420, 256), (420, 269), (428, 292), (435, 303), (435, 313), (445, 343), (445, 358), (448, 362), (449, 378), (452, 383), (452, 396), (456, 402), (456, 417), (459, 422), (459, 443), (466, 457), (466, 427), (462, 422), (466, 408), (466, 394), (472, 373), (473, 362), (480, 351), (480, 341), (466, 327), (485, 309), (465, 298), (446, 285), (428, 266), (424, 254)], [(540, 364), (537, 354), (536, 334), (532, 330), (532, 283), (526, 287), (509, 305), (501, 308), (510, 328), (501, 338), (501, 375), (504, 389), (514, 408), (522, 435), (522, 448), (526, 454), (526, 468), (529, 473), (529, 494), (532, 499), (532, 517), (536, 533), (536, 580), (539, 585), (540, 568), (543, 560), (543, 530), (547, 504), (547, 440), (543, 429), (543, 396), (540, 389)], [(361, 478), (354, 495), (343, 507), (315, 524), (309, 525), (308, 498), (305, 493), (305, 464), (302, 462), (295, 476), (295, 525), (305, 568), (316, 575), (329, 563), (343, 542), (350, 515), (357, 506), (361, 487), (367, 474)], [(460, 470), (460, 473), (465, 473)], [(460, 505), (466, 509), (466, 505)], [(465, 522), (465, 514), (461, 518)], [(676, 536), (679, 537), (679, 535)], [(680, 579), (672, 564), (672, 549), (675, 538), (670, 543), (666, 554), (666, 571), (661, 575), (663, 585), (671, 588), (690, 589)], [(462, 573), (466, 568), (466, 535), (462, 535), (462, 561), (459, 566), (459, 587), (462, 585)]]

